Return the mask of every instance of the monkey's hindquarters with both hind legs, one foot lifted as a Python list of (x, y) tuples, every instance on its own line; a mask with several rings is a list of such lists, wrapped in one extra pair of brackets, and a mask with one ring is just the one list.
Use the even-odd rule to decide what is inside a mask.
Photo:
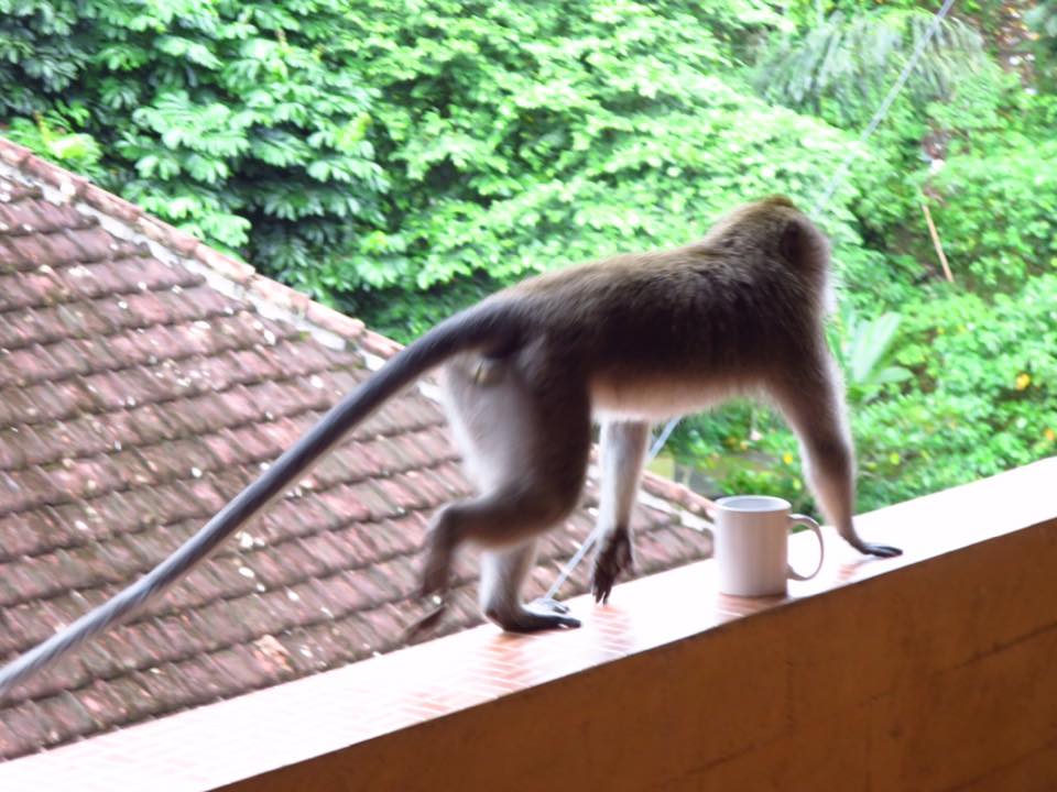
[(487, 376), (472, 359), (445, 371), (448, 417), (481, 494), (435, 517), (423, 584), (425, 593), (443, 594), (456, 548), (480, 547), (484, 613), (516, 631), (579, 624), (556, 603), (526, 607), (521, 600), (536, 538), (576, 506), (590, 451), (586, 385), (568, 372), (553, 376), (540, 360), (535, 367), (516, 356), (489, 361)]

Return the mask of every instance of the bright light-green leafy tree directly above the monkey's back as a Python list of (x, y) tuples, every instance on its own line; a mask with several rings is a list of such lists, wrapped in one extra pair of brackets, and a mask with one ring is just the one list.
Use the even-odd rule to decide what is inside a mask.
[(482, 271), (510, 282), (683, 242), (748, 197), (805, 196), (842, 141), (719, 76), (732, 63), (713, 19), (728, 33), (749, 25), (723, 7), (358, 7), (380, 150), (400, 168), (388, 250), (360, 277), (405, 289)]

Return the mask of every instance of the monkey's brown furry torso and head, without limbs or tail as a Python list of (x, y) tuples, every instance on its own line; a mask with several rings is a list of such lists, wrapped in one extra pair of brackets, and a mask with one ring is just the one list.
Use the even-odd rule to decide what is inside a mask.
[[(597, 409), (700, 409), (821, 341), (825, 240), (786, 207), (772, 207), (773, 227), (735, 217), (700, 242), (547, 273), (498, 297), (523, 306), (541, 359), (580, 372)], [(787, 244), (791, 218), (804, 245)]]

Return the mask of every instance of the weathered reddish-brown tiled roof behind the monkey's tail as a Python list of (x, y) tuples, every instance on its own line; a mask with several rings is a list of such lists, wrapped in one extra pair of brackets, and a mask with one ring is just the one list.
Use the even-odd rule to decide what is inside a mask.
[[(0, 663), (155, 565), (395, 349), (0, 140)], [(679, 524), (704, 502), (647, 490), (639, 573), (706, 554)], [(0, 759), (396, 648), (428, 517), (467, 492), (436, 404), (393, 399), (166, 596), (15, 691)], [(547, 538), (535, 590), (593, 498)], [(453, 605), (440, 631), (481, 620), (472, 558)]]

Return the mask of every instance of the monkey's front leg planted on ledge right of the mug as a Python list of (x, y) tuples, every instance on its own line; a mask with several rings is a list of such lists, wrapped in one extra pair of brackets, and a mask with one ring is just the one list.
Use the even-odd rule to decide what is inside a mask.
[(903, 551), (863, 541), (852, 522), (854, 451), (840, 395), (840, 375), (828, 353), (787, 372), (771, 393), (800, 440), (808, 485), (826, 518), (859, 552), (890, 558)]

